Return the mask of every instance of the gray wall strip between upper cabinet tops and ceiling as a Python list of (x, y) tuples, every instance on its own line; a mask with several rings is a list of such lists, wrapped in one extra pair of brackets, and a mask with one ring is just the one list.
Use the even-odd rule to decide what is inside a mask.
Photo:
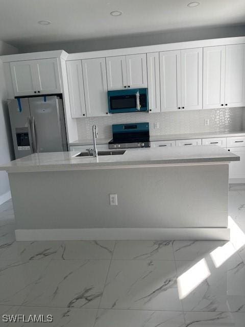
[(71, 40), (69, 42), (43, 43), (28, 47), (25, 46), (23, 48), (19, 48), (19, 51), (24, 53), (62, 49), (68, 53), (76, 53), (235, 36), (245, 36), (245, 25), (217, 28), (195, 28), (154, 34), (131, 34), (110, 38), (107, 37), (99, 39)]

